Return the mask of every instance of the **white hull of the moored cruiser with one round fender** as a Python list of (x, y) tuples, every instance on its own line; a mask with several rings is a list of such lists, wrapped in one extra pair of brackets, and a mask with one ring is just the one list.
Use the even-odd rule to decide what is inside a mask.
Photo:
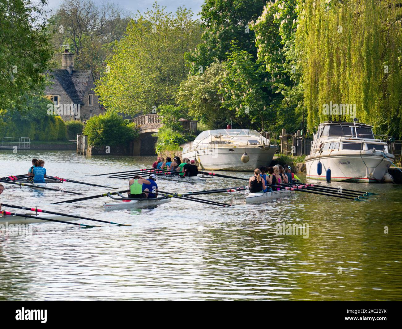
[[(229, 151), (233, 150), (233, 151)], [(202, 170), (228, 170), (252, 172), (260, 166), (268, 166), (277, 151), (276, 146), (268, 150), (259, 147), (213, 147), (182, 153), (183, 158), (199, 162)], [(242, 162), (242, 155), (247, 153), (250, 160)]]

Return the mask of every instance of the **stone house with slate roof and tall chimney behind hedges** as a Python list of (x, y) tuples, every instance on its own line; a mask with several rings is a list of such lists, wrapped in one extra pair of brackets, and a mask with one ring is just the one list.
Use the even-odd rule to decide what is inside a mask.
[[(98, 96), (94, 92), (94, 76), (90, 70), (74, 70), (74, 54), (65, 49), (62, 53), (62, 68), (49, 69), (51, 86), (45, 89), (45, 95), (51, 103), (48, 105), (52, 114), (58, 114), (64, 121), (86, 121), (91, 116), (104, 113)], [(50, 110), (49, 110), (50, 108)]]

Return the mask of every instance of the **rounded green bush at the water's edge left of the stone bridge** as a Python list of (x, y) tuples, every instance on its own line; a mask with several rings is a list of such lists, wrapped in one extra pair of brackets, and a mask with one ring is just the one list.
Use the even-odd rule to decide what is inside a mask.
[(88, 136), (92, 146), (115, 146), (133, 141), (138, 131), (133, 123), (128, 123), (115, 112), (92, 116), (85, 125), (83, 133)]

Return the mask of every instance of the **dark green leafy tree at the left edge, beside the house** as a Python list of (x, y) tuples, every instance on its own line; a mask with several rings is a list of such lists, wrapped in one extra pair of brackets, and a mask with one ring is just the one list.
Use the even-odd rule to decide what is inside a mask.
[(45, 0), (0, 0), (0, 114), (26, 109), (27, 98), (44, 88), (53, 55)]

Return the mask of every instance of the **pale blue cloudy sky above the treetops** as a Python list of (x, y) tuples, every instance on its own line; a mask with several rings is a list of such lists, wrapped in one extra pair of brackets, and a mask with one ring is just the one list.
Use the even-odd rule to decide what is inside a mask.
[[(101, 4), (104, 0), (92, 0), (95, 4)], [(62, 0), (47, 0), (49, 8), (56, 10), (59, 8)], [(115, 2), (126, 8), (127, 10), (135, 13), (137, 10), (145, 12), (147, 8), (152, 8), (152, 4), (155, 0), (109, 0), (109, 2)], [(168, 11), (176, 11), (178, 6), (185, 5), (186, 8), (193, 10), (195, 17), (199, 17), (198, 13), (201, 11), (201, 5), (204, 0), (158, 0), (158, 4), (166, 6)]]

